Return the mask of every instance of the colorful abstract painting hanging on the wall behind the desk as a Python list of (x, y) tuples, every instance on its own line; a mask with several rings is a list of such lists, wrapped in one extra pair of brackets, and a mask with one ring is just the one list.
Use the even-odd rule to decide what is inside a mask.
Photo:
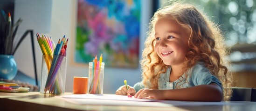
[(78, 0), (75, 62), (137, 68), (140, 0)]

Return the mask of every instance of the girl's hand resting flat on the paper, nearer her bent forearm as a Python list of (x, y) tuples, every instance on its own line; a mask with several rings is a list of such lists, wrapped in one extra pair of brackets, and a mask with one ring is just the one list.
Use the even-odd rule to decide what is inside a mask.
[(164, 93), (166, 90), (159, 89), (140, 89), (134, 95), (134, 98), (140, 99), (165, 99)]

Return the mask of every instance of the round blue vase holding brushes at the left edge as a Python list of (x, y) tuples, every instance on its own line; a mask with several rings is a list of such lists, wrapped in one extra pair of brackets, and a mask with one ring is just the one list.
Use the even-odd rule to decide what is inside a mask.
[(17, 65), (13, 55), (0, 55), (0, 78), (13, 80), (17, 74)]

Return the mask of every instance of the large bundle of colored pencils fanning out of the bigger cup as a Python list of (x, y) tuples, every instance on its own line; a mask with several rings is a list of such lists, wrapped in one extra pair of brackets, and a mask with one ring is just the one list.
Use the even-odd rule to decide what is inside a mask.
[(59, 39), (57, 45), (55, 46), (54, 41), (51, 37), (46, 37), (45, 35), (40, 35), (37, 33), (36, 35), (40, 48), (42, 50), (42, 54), (44, 55), (44, 60), (47, 64), (48, 76), (47, 81), (45, 83), (44, 92), (52, 94), (62, 94), (62, 88), (60, 87), (60, 83), (57, 78), (57, 74), (59, 68), (62, 65), (62, 60), (66, 57), (66, 50), (69, 38), (65, 41), (65, 36)]

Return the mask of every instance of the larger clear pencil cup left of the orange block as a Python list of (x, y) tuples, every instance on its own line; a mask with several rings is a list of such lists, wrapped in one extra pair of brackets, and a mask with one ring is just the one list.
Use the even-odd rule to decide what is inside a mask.
[(42, 56), (40, 93), (62, 95), (65, 93), (67, 57)]

